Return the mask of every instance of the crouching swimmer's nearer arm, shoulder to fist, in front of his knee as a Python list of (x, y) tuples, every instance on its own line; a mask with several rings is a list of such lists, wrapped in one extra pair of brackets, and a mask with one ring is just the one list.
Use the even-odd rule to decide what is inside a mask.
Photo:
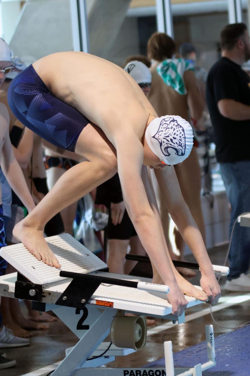
[(143, 146), (133, 130), (125, 130), (116, 135), (115, 146), (126, 209), (144, 249), (164, 284), (170, 288), (168, 298), (173, 306), (173, 314), (179, 316), (184, 312), (187, 301), (178, 287), (166, 254), (159, 223), (150, 207), (142, 182)]

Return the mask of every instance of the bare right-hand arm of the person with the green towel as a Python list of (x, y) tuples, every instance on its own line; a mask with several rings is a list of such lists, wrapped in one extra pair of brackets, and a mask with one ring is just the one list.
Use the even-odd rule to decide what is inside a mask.
[(189, 106), (190, 115), (193, 119), (198, 121), (202, 117), (204, 100), (199, 91), (194, 71), (189, 70), (184, 73), (184, 83), (187, 89), (187, 104)]

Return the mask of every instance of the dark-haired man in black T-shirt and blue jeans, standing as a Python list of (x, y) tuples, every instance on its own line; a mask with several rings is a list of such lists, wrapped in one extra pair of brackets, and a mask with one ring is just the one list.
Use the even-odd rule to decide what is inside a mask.
[[(222, 58), (207, 79), (207, 103), (214, 127), (216, 157), (232, 207), (230, 233), (237, 217), (250, 212), (250, 77), (241, 65), (250, 59), (244, 23), (221, 32)], [(250, 291), (250, 230), (235, 224), (229, 252), (229, 291)]]

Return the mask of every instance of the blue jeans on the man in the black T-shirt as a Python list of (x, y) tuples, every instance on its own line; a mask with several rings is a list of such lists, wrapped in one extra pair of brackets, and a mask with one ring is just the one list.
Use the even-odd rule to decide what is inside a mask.
[[(250, 162), (221, 163), (222, 179), (231, 204), (230, 235), (240, 214), (250, 212)], [(247, 273), (250, 262), (250, 229), (236, 222), (229, 252), (228, 279)]]

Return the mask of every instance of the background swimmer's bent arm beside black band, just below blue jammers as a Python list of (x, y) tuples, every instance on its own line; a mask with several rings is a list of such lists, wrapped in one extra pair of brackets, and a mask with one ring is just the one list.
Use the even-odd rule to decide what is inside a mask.
[(15, 158), (23, 170), (28, 167), (28, 163), (30, 162), (30, 158), (33, 152), (33, 143), (34, 132), (25, 127), (24, 135), (22, 136), (18, 147), (16, 148), (12, 145)]

